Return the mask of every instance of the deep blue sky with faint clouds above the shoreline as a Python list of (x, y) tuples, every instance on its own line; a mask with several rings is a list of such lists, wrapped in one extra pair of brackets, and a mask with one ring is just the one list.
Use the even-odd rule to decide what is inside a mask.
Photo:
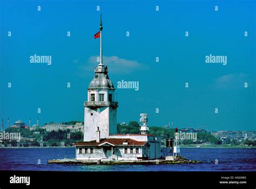
[[(0, 2), (5, 127), (7, 117), (11, 124), (28, 124), (29, 118), (35, 124), (37, 117), (41, 124), (84, 119), (99, 55), (93, 35), (103, 14), (103, 62), (110, 79), (116, 88), (122, 79), (139, 82), (138, 91), (116, 89), (119, 123), (148, 113), (148, 125), (255, 130), (255, 1)], [(52, 64), (31, 64), (34, 54), (52, 56)], [(227, 56), (227, 65), (206, 64), (210, 54)]]

